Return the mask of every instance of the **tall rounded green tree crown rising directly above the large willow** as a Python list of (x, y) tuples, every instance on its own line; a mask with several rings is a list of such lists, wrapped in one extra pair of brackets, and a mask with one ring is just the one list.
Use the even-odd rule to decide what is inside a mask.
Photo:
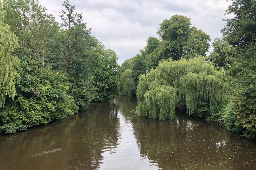
[(163, 20), (159, 26), (157, 33), (161, 41), (145, 57), (147, 70), (155, 68), (162, 59), (189, 59), (194, 58), (196, 54), (206, 56), (210, 46), (210, 37), (201, 29), (191, 27), (190, 18), (173, 15), (170, 19)]

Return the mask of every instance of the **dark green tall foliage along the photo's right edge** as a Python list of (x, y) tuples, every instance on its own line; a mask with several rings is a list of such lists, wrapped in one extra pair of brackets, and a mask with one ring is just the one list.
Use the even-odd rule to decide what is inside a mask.
[(236, 57), (229, 71), (232, 77), (234, 113), (247, 138), (256, 137), (256, 1), (233, 0), (223, 29), (224, 40), (235, 47)]

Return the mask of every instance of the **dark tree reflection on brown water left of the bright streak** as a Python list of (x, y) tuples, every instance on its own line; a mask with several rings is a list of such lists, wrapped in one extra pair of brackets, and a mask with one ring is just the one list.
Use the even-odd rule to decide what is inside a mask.
[[(101, 154), (118, 145), (116, 113), (115, 104), (100, 103), (46, 126), (0, 136), (1, 155), (5, 155), (0, 156), (0, 169), (8, 169), (9, 165), (19, 169), (98, 168)], [(37, 161), (38, 155), (44, 156), (43, 162)]]

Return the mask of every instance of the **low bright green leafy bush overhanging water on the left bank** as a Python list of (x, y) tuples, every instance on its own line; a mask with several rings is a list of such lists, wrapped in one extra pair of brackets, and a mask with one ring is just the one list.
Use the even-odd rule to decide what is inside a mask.
[(9, 100), (0, 112), (0, 131), (14, 133), (77, 113), (69, 87), (65, 74), (51, 68), (25, 73), (17, 87), (19, 97)]

